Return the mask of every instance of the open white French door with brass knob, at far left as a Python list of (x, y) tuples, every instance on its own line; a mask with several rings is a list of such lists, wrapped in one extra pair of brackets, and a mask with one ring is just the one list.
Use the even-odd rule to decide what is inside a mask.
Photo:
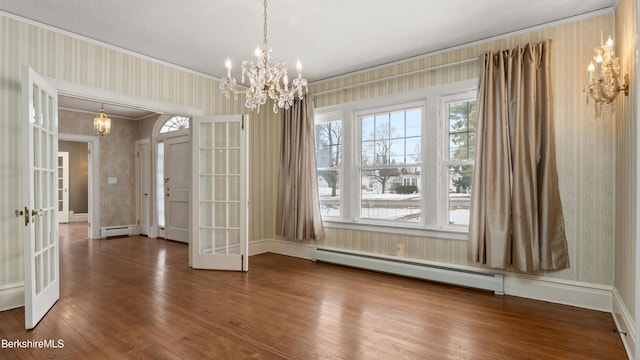
[(22, 67), (25, 327), (33, 329), (60, 297), (58, 267), (58, 95)]

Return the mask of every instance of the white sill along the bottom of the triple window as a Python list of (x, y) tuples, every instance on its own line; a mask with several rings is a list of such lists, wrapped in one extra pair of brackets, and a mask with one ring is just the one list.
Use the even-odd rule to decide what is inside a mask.
[(411, 226), (393, 226), (379, 223), (369, 222), (351, 222), (340, 220), (323, 220), (322, 223), (326, 228), (330, 229), (343, 229), (343, 230), (356, 230), (356, 231), (370, 231), (379, 233), (388, 233), (396, 235), (408, 235), (408, 236), (422, 236), (437, 239), (447, 240), (464, 240), (468, 238), (467, 230), (447, 229), (447, 228), (422, 228)]

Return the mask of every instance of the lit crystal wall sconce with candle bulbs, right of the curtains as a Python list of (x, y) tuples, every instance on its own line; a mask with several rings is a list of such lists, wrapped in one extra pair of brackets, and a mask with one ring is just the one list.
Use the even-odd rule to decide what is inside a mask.
[(620, 59), (613, 56), (613, 40), (609, 37), (604, 43), (601, 39), (600, 44), (594, 49), (593, 60), (587, 67), (589, 85), (584, 85), (583, 91), (587, 103), (589, 97), (593, 99), (597, 118), (616, 112), (614, 100), (619, 92), (629, 95), (629, 74), (624, 75), (620, 84)]

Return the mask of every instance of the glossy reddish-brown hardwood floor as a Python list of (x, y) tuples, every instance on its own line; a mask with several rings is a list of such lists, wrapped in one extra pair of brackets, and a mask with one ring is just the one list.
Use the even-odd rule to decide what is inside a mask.
[(61, 227), (61, 298), (33, 331), (0, 312), (5, 359), (626, 359), (611, 314), (314, 263), (195, 271), (186, 244)]

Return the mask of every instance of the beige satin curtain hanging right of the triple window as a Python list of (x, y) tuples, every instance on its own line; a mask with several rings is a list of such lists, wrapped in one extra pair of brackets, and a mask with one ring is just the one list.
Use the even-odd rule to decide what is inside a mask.
[(481, 57), (468, 254), (491, 268), (569, 267), (550, 60), (551, 40)]

